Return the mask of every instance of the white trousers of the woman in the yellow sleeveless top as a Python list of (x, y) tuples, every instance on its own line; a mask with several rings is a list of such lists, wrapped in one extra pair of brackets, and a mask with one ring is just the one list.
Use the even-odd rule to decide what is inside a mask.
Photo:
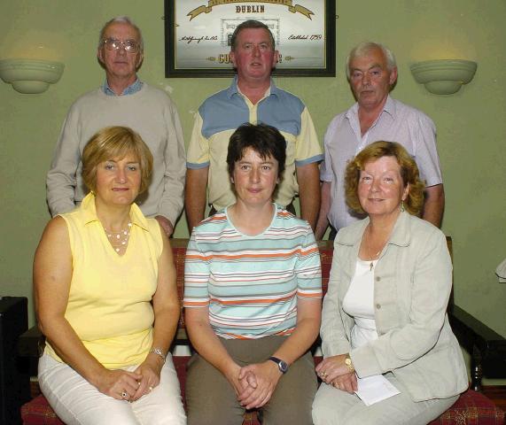
[[(125, 370), (134, 371), (138, 365)], [(39, 385), (66, 425), (183, 425), (186, 415), (172, 356), (167, 355), (160, 384), (129, 403), (97, 390), (86, 379), (48, 354), (39, 359)]]

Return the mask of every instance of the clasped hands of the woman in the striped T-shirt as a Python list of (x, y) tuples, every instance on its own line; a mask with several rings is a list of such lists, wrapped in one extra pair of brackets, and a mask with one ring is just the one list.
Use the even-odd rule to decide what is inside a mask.
[(269, 360), (239, 367), (237, 377), (232, 382), (237, 400), (246, 409), (264, 406), (276, 390), (281, 375), (276, 363)]

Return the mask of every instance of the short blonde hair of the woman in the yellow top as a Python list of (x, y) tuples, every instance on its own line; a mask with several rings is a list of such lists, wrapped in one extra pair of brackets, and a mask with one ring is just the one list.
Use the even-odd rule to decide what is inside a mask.
[(97, 167), (113, 158), (125, 158), (131, 153), (139, 161), (141, 187), (148, 189), (152, 174), (152, 152), (140, 135), (128, 127), (106, 127), (90, 138), (82, 151), (82, 181), (88, 189), (97, 189)]

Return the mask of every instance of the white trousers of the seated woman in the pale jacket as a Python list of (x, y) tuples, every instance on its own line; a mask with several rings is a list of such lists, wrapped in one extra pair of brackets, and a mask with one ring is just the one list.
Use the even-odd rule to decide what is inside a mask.
[(322, 383), (313, 401), (315, 425), (425, 425), (448, 410), (459, 396), (416, 402), (408, 390), (388, 373), (385, 375), (401, 394), (365, 406), (355, 394)]

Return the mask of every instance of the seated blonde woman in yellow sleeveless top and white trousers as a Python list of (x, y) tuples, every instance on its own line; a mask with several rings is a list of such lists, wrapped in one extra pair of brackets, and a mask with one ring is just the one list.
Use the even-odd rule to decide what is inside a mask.
[(134, 204), (151, 172), (139, 135), (100, 130), (82, 154), (90, 194), (49, 222), (35, 252), (39, 383), (66, 424), (186, 423), (167, 354), (179, 317), (171, 249)]

